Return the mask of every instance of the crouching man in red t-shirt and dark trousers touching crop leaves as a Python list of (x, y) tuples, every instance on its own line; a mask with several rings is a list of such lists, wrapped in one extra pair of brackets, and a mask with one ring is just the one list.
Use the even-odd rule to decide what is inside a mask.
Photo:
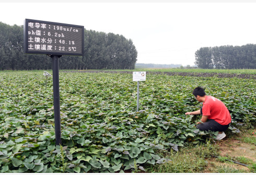
[(201, 131), (218, 131), (217, 140), (225, 138), (226, 131), (231, 122), (231, 116), (225, 104), (213, 96), (207, 96), (203, 88), (197, 87), (192, 93), (196, 100), (203, 102), (203, 107), (200, 110), (185, 113), (185, 115), (202, 115), (201, 122), (196, 128)]

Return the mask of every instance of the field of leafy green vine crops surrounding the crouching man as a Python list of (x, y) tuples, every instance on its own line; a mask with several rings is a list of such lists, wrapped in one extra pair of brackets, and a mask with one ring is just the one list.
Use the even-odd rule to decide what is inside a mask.
[(254, 77), (200, 75), (147, 73), (136, 112), (131, 73), (60, 71), (62, 146), (56, 146), (52, 79), (46, 84), (43, 71), (2, 71), (0, 172), (136, 172), (165, 164), (160, 152), (217, 134), (195, 128), (200, 116), (185, 115), (202, 106), (192, 95), (196, 86), (226, 104), (229, 134), (255, 126)]

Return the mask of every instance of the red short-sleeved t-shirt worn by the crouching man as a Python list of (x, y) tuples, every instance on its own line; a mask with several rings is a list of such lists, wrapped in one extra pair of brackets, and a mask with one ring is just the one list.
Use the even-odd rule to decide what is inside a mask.
[(203, 116), (208, 116), (208, 119), (213, 119), (219, 124), (227, 125), (231, 122), (228, 108), (222, 101), (213, 96), (205, 97), (202, 111)]

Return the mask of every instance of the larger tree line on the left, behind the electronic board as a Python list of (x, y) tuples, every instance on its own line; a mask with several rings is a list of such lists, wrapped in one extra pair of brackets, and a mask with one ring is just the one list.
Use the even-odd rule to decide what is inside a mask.
[[(84, 56), (62, 56), (60, 69), (134, 69), (137, 50), (123, 35), (85, 29)], [(0, 70), (52, 69), (46, 55), (24, 53), (23, 26), (0, 22)]]

